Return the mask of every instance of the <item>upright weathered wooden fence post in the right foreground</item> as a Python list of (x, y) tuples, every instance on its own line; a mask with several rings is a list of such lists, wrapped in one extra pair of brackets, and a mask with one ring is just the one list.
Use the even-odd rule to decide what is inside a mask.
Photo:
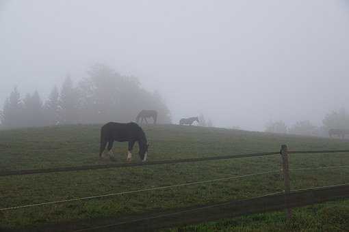
[(287, 145), (281, 145), (281, 159), (283, 162), (283, 182), (285, 184), (285, 205), (287, 207), (286, 215), (287, 219), (292, 218), (292, 209), (288, 207), (289, 201), (288, 201), (288, 194), (291, 192), (290, 184), (289, 184), (289, 163), (288, 163), (288, 153), (287, 153)]

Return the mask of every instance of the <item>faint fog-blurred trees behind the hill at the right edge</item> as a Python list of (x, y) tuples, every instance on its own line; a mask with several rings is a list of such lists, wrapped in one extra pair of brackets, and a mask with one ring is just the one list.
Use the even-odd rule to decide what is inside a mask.
[(341, 129), (349, 130), (349, 114), (344, 108), (332, 111), (325, 115), (322, 126), (315, 126), (311, 121), (297, 121), (296, 124), (288, 127), (284, 121), (269, 121), (266, 124), (266, 132), (279, 134), (299, 134), (311, 136), (328, 136), (328, 130)]

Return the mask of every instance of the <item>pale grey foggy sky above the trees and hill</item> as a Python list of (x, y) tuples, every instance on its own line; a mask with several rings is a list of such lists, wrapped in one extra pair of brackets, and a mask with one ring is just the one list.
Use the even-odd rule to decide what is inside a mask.
[(349, 110), (348, 41), (346, 0), (0, 0), (0, 106), (98, 62), (158, 90), (174, 123), (320, 125)]

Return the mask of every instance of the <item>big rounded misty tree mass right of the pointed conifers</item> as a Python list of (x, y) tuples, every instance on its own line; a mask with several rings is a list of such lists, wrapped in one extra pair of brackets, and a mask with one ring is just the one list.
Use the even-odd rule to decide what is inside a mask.
[(96, 64), (79, 83), (83, 122), (132, 121), (142, 109), (158, 112), (158, 122), (170, 123), (170, 111), (159, 93), (140, 86), (138, 78), (122, 76), (112, 68)]

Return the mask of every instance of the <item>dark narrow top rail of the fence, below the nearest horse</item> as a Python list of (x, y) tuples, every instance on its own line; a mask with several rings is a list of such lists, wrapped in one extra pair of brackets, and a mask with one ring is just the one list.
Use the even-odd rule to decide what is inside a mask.
[[(349, 150), (288, 151), (288, 154), (319, 154), (319, 153), (349, 153)], [(213, 157), (203, 157), (203, 158), (187, 158), (187, 159), (179, 159), (179, 160), (159, 160), (159, 161), (151, 161), (151, 162), (134, 162), (134, 163), (123, 163), (123, 164), (99, 164), (99, 165), (86, 165), (86, 166), (66, 166), (66, 167), (49, 168), (49, 169), (0, 171), (0, 177), (10, 176), (10, 175), (31, 175), (31, 174), (57, 173), (57, 172), (66, 172), (66, 171), (86, 171), (86, 170), (95, 170), (95, 169), (112, 169), (112, 168), (122, 168), (122, 167), (132, 167), (132, 166), (149, 166), (149, 165), (157, 165), (157, 164), (177, 164), (177, 163), (183, 163), (183, 162), (201, 162), (201, 161), (209, 161), (209, 160), (227, 160), (227, 159), (234, 159), (234, 158), (272, 156), (277, 154), (279, 154), (279, 151), (253, 153), (253, 154), (238, 154), (238, 155), (228, 155), (228, 156), (213, 156)]]

